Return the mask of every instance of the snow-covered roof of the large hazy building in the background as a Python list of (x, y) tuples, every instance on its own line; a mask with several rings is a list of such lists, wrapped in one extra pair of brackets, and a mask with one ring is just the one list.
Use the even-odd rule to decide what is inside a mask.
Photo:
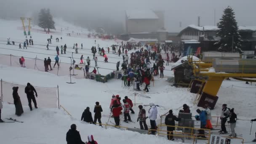
[(158, 19), (158, 16), (151, 10), (126, 10), (128, 19)]

